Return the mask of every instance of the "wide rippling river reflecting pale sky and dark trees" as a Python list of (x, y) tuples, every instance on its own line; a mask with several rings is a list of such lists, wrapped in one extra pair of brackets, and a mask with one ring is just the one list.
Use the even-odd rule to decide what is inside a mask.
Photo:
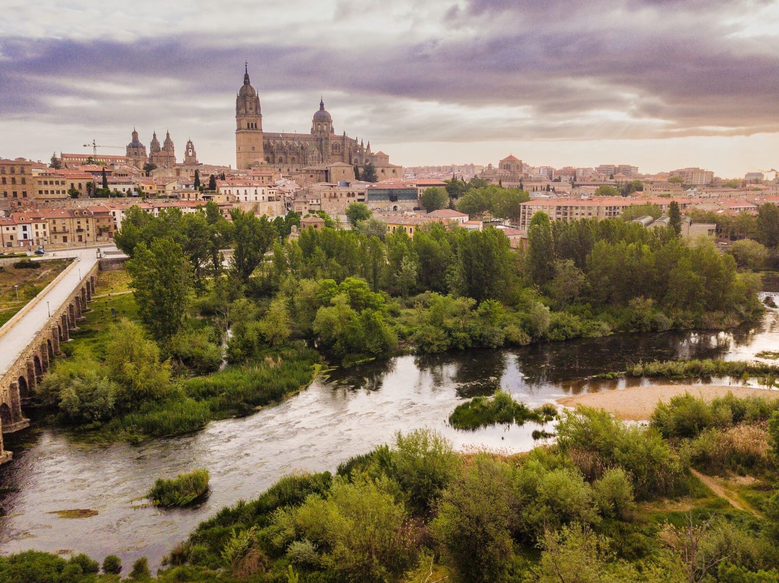
[[(6, 436), (13, 462), (0, 468), (0, 553), (36, 549), (109, 553), (125, 565), (145, 555), (152, 565), (204, 518), (226, 504), (256, 497), (280, 476), (333, 470), (353, 455), (416, 427), (442, 431), (456, 448), (523, 451), (538, 426), (454, 430), (446, 423), (462, 399), (511, 392), (530, 406), (563, 395), (648, 384), (639, 379), (587, 380), (624, 370), (636, 360), (750, 359), (779, 346), (779, 319), (730, 332), (666, 332), (471, 350), (438, 356), (399, 356), (336, 370), (280, 405), (240, 419), (210, 423), (196, 433), (139, 445), (79, 444), (64, 431), (33, 427)], [(720, 380), (721, 382), (722, 380)], [(157, 477), (205, 467), (211, 493), (195, 507), (143, 505)], [(89, 509), (90, 518), (57, 511)]]

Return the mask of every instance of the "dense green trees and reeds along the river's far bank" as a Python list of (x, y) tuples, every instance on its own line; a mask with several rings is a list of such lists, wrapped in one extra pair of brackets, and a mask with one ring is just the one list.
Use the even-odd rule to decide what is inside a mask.
[(538, 213), (527, 250), (513, 251), (492, 227), (411, 238), (363, 219), (287, 241), (293, 212), (231, 215), (129, 209), (116, 242), (134, 293), (111, 297), (125, 318), (109, 326), (88, 314), (37, 389), (58, 420), (101, 440), (164, 436), (282, 399), (323, 360), (717, 328), (763, 309), (756, 276), (670, 227)]

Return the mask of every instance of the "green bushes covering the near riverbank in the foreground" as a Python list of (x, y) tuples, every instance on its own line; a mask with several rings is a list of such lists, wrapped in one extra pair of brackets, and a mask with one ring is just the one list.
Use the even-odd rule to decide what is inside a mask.
[[(641, 427), (580, 408), (563, 413), (554, 444), (518, 455), (457, 453), (432, 430), (398, 434), (334, 474), (296, 473), (224, 507), (156, 577), (141, 559), (130, 578), (774, 583), (777, 409), (776, 399), (682, 395)], [(689, 466), (734, 476), (725, 495), (742, 509)], [(80, 555), (0, 558), (9, 583), (116, 581), (97, 571)]]

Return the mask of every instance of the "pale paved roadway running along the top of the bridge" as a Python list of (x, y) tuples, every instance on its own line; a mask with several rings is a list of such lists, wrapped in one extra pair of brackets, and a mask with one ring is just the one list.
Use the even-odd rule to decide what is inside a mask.
[[(111, 250), (111, 248), (105, 249)], [(67, 257), (78, 257), (78, 264), (65, 277), (60, 279), (56, 286), (48, 290), (44, 297), (41, 297), (41, 301), (24, 314), (21, 320), (16, 322), (12, 330), (0, 336), (0, 376), (5, 374), (5, 371), (8, 371), (16, 363), (19, 355), (35, 339), (37, 333), (41, 332), (44, 325), (47, 325), (49, 308), (51, 307), (51, 312), (56, 311), (79, 286), (81, 276), (85, 276), (86, 272), (97, 263), (97, 251), (95, 249), (55, 251), (53, 255), (47, 253), (44, 258)], [(46, 305), (47, 302), (49, 304), (48, 307)]]

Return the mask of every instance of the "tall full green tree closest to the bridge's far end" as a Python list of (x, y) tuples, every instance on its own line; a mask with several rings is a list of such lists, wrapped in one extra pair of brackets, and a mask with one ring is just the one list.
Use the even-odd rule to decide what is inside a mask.
[(192, 291), (192, 271), (181, 245), (167, 237), (154, 239), (149, 247), (140, 243), (127, 271), (146, 328), (157, 339), (178, 333)]

